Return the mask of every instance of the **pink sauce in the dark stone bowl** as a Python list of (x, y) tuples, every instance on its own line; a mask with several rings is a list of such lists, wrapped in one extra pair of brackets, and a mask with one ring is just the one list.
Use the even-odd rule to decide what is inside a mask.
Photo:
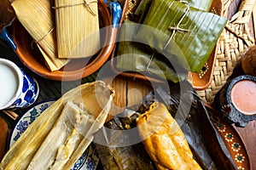
[(256, 82), (242, 80), (231, 89), (231, 101), (245, 115), (256, 114)]

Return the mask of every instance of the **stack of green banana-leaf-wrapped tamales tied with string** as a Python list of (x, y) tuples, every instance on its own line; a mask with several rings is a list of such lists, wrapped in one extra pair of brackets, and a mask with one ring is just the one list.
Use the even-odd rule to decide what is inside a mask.
[[(117, 57), (116, 67), (120, 71), (164, 75), (172, 82), (177, 82), (177, 77), (167, 75), (171, 69), (177, 71), (178, 66), (186, 71), (201, 71), (227, 22), (208, 12), (211, 4), (212, 0), (143, 0), (135, 12), (142, 25), (131, 26), (131, 22), (125, 20), (124, 24), (135, 28), (131, 32), (125, 28), (128, 26), (122, 26), (120, 30), (118, 54), (123, 57)], [(145, 53), (148, 47), (150, 50)], [(162, 58), (171, 65), (160, 64)], [(180, 75), (178, 77), (183, 80)]]

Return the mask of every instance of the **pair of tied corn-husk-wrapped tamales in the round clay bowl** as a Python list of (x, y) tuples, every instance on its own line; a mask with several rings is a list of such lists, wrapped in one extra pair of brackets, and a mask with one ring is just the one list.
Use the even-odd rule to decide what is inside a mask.
[(18, 20), (37, 43), (50, 71), (60, 70), (69, 58), (89, 57), (98, 51), (97, 1), (9, 1)]

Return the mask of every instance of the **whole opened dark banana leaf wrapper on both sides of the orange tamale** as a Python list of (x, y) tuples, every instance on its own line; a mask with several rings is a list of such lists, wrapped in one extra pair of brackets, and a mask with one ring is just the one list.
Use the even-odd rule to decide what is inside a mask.
[[(230, 156), (229, 150), (227, 150), (223, 139), (220, 137), (218, 130), (212, 124), (209, 113), (205, 108), (200, 97), (195, 93), (191, 84), (187, 81), (172, 83), (168, 88), (157, 88), (150, 92), (143, 98), (143, 101), (127, 108), (123, 113), (114, 116), (112, 120), (104, 124), (105, 129), (96, 133), (97, 143), (100, 139), (105, 139), (107, 142), (104, 145), (104, 151), (99, 144), (96, 144), (96, 149), (102, 159), (103, 167), (108, 167), (108, 161), (112, 162), (113, 169), (122, 169), (114, 162), (114, 160), (121, 159), (134, 160), (138, 162), (149, 161), (148, 156), (133, 157), (133, 155), (113, 154), (113, 150), (127, 150), (135, 149), (134, 145), (137, 145), (137, 153), (145, 153), (142, 143), (137, 143), (129, 146), (128, 148), (118, 147), (118, 144), (130, 144), (132, 140), (140, 138), (139, 133), (135, 130), (132, 135), (122, 135), (119, 131), (108, 131), (106, 129), (133, 129), (137, 126), (136, 119), (139, 115), (148, 111), (150, 105), (154, 102), (161, 102), (166, 105), (167, 110), (175, 118), (179, 127), (181, 127), (183, 134), (188, 141), (189, 148), (195, 156), (195, 160), (199, 163), (202, 169), (236, 169), (236, 164)], [(111, 145), (111, 143), (114, 143)], [(109, 144), (109, 145), (108, 145)], [(100, 144), (101, 146), (101, 144)], [(111, 147), (110, 147), (111, 146)], [(108, 154), (106, 154), (108, 153)], [(150, 159), (150, 158), (149, 158)], [(154, 161), (150, 159), (150, 166)], [(132, 166), (125, 161), (119, 162), (122, 167)], [(115, 168), (114, 168), (115, 167)], [(129, 167), (128, 169), (132, 169)], [(152, 168), (154, 165), (152, 165)], [(112, 169), (108, 167), (106, 169)], [(148, 169), (148, 168), (146, 168)]]

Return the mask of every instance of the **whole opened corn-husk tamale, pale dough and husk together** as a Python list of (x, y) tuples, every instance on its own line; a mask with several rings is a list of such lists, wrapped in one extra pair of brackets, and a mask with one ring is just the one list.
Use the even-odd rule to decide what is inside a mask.
[[(110, 110), (113, 95), (113, 89), (101, 81), (85, 83), (73, 88), (53, 105), (50, 105), (35, 122), (27, 127), (20, 139), (13, 144), (3, 157), (0, 169), (26, 169), (30, 163), (32, 166), (32, 160), (37, 161), (38, 156), (41, 156), (40, 161), (49, 159), (48, 161), (53, 162), (53, 167), (55, 165), (61, 165), (63, 169), (72, 167), (73, 163), (79, 159), (79, 156), (90, 144), (93, 133), (103, 126)], [(67, 103), (67, 101), (70, 102)], [(69, 111), (67, 112), (67, 110)], [(86, 116), (81, 114), (81, 111), (84, 111)], [(92, 117), (95, 118), (92, 119)], [(78, 118), (81, 118), (81, 120), (79, 121)], [(67, 120), (67, 122), (61, 124), (61, 120)], [(88, 122), (90, 123), (87, 124)], [(70, 125), (71, 127), (69, 127)], [(58, 126), (65, 127), (65, 130)], [(88, 132), (81, 130), (82, 127), (88, 129)], [(66, 130), (67, 132), (63, 133)], [(61, 131), (61, 133), (58, 131)], [(53, 133), (56, 136), (53, 136)], [(84, 138), (81, 138), (82, 136)], [(53, 139), (49, 140), (49, 138)], [(69, 144), (75, 145), (70, 146)], [(55, 148), (55, 151), (52, 152), (45, 148), (46, 145)], [(43, 148), (45, 148), (44, 154), (40, 155)], [(62, 157), (63, 160), (61, 160), (61, 155), (68, 158), (64, 157), (63, 159)], [(46, 162), (46, 164), (49, 163)], [(40, 169), (39, 165), (36, 169)]]

